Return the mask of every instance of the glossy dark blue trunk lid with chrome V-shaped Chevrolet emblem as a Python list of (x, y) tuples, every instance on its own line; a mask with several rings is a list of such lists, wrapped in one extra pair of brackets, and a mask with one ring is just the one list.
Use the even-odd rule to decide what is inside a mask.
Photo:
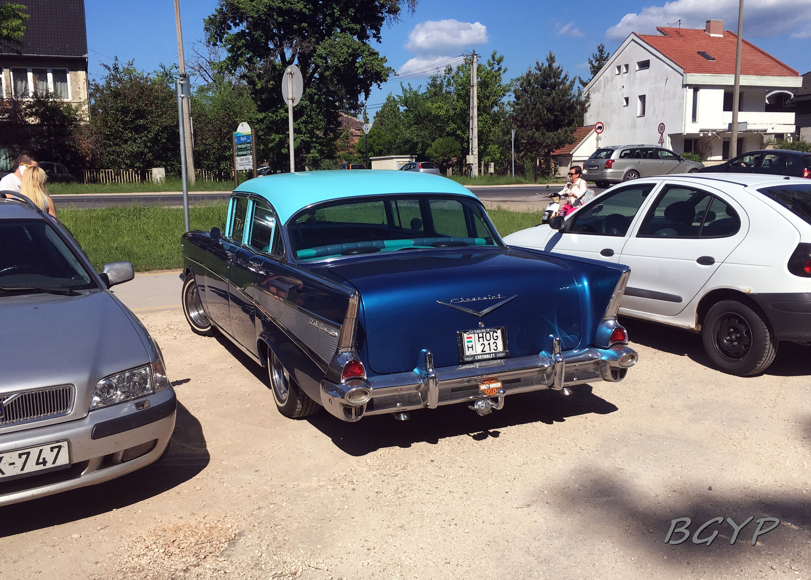
[[(436, 249), (354, 259), (328, 271), (360, 292), (358, 347), (377, 374), (414, 369), (423, 348), (436, 367), (459, 365), (457, 333), (479, 322), (504, 326), (510, 357), (548, 351), (549, 335), (560, 336), (564, 349), (580, 343), (577, 284), (555, 258), (520, 249)], [(479, 317), (448, 304), (479, 313), (499, 306)]]

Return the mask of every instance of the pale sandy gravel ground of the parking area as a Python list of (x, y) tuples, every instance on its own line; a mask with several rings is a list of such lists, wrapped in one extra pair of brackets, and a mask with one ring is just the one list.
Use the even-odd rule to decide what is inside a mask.
[[(182, 313), (143, 313), (180, 405), (130, 476), (0, 509), (5, 578), (806, 578), (811, 348), (762, 377), (626, 321), (620, 383), (343, 423), (279, 415), (262, 369)], [(710, 546), (664, 543), (673, 518)], [(680, 535), (676, 532), (674, 538)]]

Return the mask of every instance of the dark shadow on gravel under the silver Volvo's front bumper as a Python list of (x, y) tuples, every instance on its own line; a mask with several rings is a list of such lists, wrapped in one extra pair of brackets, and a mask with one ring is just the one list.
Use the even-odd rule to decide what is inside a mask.
[(0, 537), (75, 522), (144, 501), (191, 480), (209, 459), (200, 421), (178, 403), (172, 439), (155, 463), (103, 484), (2, 507)]

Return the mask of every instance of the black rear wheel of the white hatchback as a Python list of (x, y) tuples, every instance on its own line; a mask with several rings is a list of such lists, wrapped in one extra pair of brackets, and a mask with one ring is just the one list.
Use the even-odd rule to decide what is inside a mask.
[(777, 341), (766, 322), (739, 301), (720, 301), (710, 308), (702, 339), (713, 364), (739, 377), (762, 373), (777, 355)]

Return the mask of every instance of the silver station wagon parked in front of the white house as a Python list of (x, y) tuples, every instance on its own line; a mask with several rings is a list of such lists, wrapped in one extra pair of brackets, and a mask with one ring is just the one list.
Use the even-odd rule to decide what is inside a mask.
[(611, 145), (602, 147), (583, 162), (583, 179), (598, 187), (620, 181), (671, 173), (697, 173), (704, 164), (682, 159), (657, 145)]

